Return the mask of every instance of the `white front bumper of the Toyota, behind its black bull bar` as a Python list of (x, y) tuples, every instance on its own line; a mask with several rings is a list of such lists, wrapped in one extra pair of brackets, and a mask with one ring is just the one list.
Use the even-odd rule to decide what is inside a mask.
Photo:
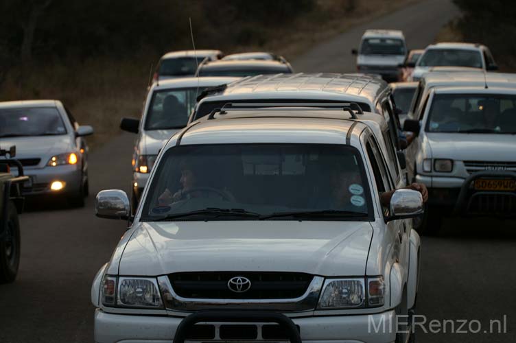
[[(95, 342), (98, 343), (170, 343), (174, 340), (178, 326), (185, 318), (170, 316), (143, 316), (126, 314), (108, 314), (102, 309), (95, 311)], [(388, 343), (396, 338), (392, 323), (395, 323), (395, 311), (381, 314), (357, 316), (312, 316), (291, 318), (303, 342), (334, 343)], [(215, 327), (221, 324), (253, 324), (259, 328), (257, 339), (253, 342), (266, 342), (261, 337), (263, 322), (212, 322)], [(385, 324), (385, 326), (383, 326)], [(385, 330), (384, 330), (385, 328)], [(222, 342), (220, 329), (215, 330), (215, 339), (203, 339), (202, 342)], [(242, 342), (235, 338), (235, 342)], [(273, 342), (287, 342), (287, 339)], [(187, 342), (189, 342), (187, 340)], [(270, 342), (270, 340), (268, 341)]]

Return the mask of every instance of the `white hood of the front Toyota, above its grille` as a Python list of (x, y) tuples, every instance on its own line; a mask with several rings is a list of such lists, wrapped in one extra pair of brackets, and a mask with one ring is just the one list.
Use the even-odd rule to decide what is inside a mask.
[(139, 223), (120, 275), (194, 271), (364, 275), (369, 222), (212, 221)]

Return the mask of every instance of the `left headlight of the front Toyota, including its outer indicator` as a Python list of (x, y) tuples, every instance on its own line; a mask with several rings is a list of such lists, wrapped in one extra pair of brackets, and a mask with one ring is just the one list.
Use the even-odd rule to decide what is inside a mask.
[(158, 283), (153, 278), (104, 276), (101, 298), (108, 307), (163, 308)]

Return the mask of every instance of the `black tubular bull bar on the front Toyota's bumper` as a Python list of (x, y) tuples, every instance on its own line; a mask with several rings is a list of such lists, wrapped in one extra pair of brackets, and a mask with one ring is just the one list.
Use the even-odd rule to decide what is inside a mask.
[(301, 343), (301, 335), (292, 319), (268, 311), (199, 311), (187, 316), (177, 327), (174, 343), (185, 343), (188, 329), (199, 322), (274, 322), (288, 331), (291, 343)]

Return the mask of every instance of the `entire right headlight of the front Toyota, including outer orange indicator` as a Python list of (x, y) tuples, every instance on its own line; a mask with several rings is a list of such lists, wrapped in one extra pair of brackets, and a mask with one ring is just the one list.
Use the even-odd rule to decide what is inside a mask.
[(367, 279), (326, 279), (318, 309), (354, 309), (383, 305), (382, 276)]

